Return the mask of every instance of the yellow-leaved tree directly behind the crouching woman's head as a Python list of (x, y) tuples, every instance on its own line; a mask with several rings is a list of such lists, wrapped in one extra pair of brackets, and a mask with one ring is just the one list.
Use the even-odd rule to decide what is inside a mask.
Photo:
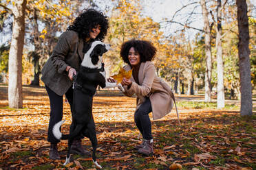
[(109, 18), (111, 27), (106, 40), (111, 44), (112, 50), (105, 55), (104, 62), (109, 63), (106, 64), (107, 69), (118, 71), (119, 66), (122, 65), (119, 58), (120, 45), (132, 38), (150, 40), (157, 49), (160, 49), (159, 40), (162, 36), (162, 32), (159, 31), (160, 25), (151, 18), (142, 16), (138, 1), (117, 0), (111, 11)]

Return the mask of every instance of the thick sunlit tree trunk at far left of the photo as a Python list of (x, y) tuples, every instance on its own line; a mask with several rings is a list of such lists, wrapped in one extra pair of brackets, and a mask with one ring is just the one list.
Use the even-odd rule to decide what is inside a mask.
[(22, 55), (25, 34), (26, 0), (12, 1), (14, 22), (9, 53), (8, 101), (10, 108), (22, 108)]

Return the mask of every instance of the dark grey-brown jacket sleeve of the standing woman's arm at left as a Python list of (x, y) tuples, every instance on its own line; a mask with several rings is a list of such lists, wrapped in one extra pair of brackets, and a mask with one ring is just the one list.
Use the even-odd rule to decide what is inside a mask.
[(61, 34), (61, 36), (58, 38), (58, 42), (56, 47), (54, 47), (54, 51), (52, 52), (52, 55), (50, 57), (50, 60), (52, 61), (52, 64), (55, 66), (58, 73), (63, 73), (65, 71), (67, 64), (65, 62), (65, 58), (67, 57), (67, 54), (70, 52), (70, 49), (76, 42), (76, 36), (75, 32), (64, 32)]

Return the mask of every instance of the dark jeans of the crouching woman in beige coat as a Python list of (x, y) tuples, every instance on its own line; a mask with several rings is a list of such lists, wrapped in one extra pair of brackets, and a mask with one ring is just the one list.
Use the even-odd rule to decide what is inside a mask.
[(151, 121), (149, 119), (149, 113), (152, 112), (151, 102), (149, 97), (146, 101), (140, 105), (140, 108), (134, 113), (134, 121), (138, 130), (146, 140), (152, 139), (151, 134)]

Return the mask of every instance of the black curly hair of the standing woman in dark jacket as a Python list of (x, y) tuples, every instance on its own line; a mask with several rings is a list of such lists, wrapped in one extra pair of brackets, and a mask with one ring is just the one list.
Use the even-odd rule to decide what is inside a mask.
[(72, 25), (67, 27), (67, 30), (78, 32), (79, 38), (85, 39), (89, 38), (89, 32), (91, 32), (96, 25), (100, 25), (100, 34), (98, 34), (95, 40), (103, 40), (109, 28), (107, 16), (104, 16), (102, 12), (98, 12), (94, 9), (87, 9), (83, 10), (83, 13), (76, 17)]

